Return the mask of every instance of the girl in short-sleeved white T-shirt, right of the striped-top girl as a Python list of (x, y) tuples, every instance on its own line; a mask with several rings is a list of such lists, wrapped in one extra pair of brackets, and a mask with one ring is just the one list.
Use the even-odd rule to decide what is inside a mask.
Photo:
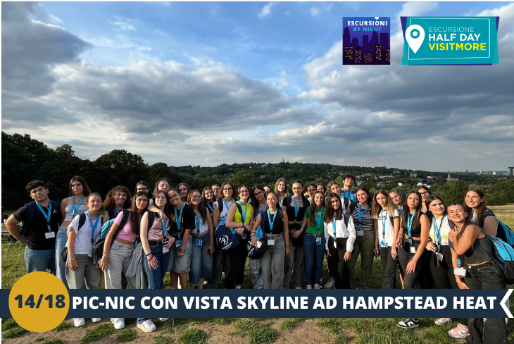
[(396, 241), (400, 231), (400, 211), (386, 190), (375, 192), (371, 217), (375, 220), (375, 254), (382, 257), (385, 272), (382, 289), (396, 289)]

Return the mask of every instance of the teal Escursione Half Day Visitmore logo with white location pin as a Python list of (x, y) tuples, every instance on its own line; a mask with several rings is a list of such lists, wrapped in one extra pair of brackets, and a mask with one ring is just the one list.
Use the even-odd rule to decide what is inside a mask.
[(403, 65), (499, 63), (500, 17), (401, 17)]

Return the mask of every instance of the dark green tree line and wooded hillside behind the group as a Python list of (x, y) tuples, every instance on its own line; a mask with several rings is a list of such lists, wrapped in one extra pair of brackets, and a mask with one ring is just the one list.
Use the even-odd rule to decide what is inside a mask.
[[(476, 174), (456, 174), (460, 180), (446, 181), (447, 173), (413, 171), (399, 168), (336, 166), (331, 164), (302, 164), (282, 162), (278, 164), (246, 163), (221, 164), (219, 166), (168, 166), (163, 162), (146, 164), (142, 156), (114, 149), (91, 161), (75, 155), (73, 147), (62, 145), (56, 149), (47, 147), (44, 142), (34, 140), (30, 135), (2, 132), (2, 206), (15, 209), (30, 202), (25, 185), (30, 180), (40, 179), (48, 185), (50, 198), (60, 201), (68, 197), (68, 182), (73, 176), (82, 176), (89, 187), (106, 195), (115, 185), (125, 185), (133, 190), (139, 180), (153, 185), (166, 179), (170, 185), (187, 183), (191, 188), (203, 189), (213, 184), (220, 185), (230, 180), (234, 185), (270, 185), (278, 178), (289, 182), (295, 179), (304, 183), (323, 183), (330, 180), (342, 182), (345, 173), (358, 176), (361, 185), (374, 192), (377, 188), (399, 189), (406, 193), (422, 182), (429, 182), (435, 195), (445, 202), (463, 202), (465, 190), (470, 187), (482, 189), (492, 185), (487, 191), (487, 204), (501, 205), (514, 202), (514, 180), (498, 180), (493, 176)], [(415, 178), (411, 173), (417, 174)], [(390, 177), (389, 177), (390, 176)], [(432, 180), (425, 180), (433, 176)], [(452, 173), (452, 176), (454, 174)], [(382, 178), (380, 178), (382, 177)], [(399, 187), (398, 183), (403, 183)]]

